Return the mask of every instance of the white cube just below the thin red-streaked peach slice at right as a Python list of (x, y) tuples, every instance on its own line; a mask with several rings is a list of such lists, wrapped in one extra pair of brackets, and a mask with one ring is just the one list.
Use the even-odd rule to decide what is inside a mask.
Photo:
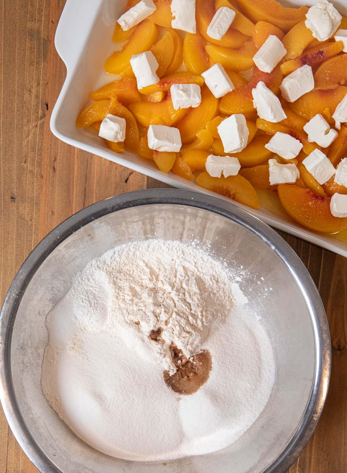
[(280, 85), (282, 97), (295, 102), (299, 97), (314, 88), (312, 67), (305, 64), (286, 76)]

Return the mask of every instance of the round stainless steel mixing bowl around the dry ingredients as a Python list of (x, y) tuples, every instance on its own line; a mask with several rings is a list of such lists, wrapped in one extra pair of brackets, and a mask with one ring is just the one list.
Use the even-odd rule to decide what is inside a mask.
[[(196, 239), (243, 272), (241, 288), (262, 317), (277, 369), (264, 411), (233, 445), (166, 464), (135, 464), (89, 447), (46, 403), (40, 388), (44, 321), (69, 289), (72, 275), (90, 259), (116, 245), (153, 237)], [(174, 189), (97, 202), (52, 230), (11, 284), (0, 340), (1, 403), (20, 446), (44, 473), (285, 472), (317, 424), (330, 377), (324, 308), (295, 252), (275, 231), (229, 202)]]

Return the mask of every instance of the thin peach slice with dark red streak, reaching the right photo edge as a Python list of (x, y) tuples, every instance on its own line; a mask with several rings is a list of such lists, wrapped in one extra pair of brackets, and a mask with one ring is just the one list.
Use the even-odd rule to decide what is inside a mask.
[(305, 64), (311, 67), (319, 66), (319, 64), (331, 58), (332, 56), (336, 56), (336, 54), (341, 53), (342, 49), (342, 41), (314, 46), (313, 48), (304, 51), (300, 57), (283, 62), (281, 64), (282, 74), (286, 76), (291, 72), (294, 72), (299, 67), (304, 66)]

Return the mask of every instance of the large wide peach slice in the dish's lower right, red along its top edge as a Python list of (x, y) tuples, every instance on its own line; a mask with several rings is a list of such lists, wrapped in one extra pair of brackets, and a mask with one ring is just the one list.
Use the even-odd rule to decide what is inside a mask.
[(321, 197), (294, 184), (279, 184), (278, 197), (287, 214), (303, 227), (324, 233), (347, 228), (347, 217), (331, 215), (330, 197)]

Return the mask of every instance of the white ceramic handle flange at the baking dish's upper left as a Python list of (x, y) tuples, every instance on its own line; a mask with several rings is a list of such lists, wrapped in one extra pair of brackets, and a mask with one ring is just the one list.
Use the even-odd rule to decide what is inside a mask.
[[(93, 26), (104, 0), (67, 0), (55, 32), (55, 48), (68, 73), (86, 48), (86, 28)], [(88, 37), (88, 35), (87, 35)]]

